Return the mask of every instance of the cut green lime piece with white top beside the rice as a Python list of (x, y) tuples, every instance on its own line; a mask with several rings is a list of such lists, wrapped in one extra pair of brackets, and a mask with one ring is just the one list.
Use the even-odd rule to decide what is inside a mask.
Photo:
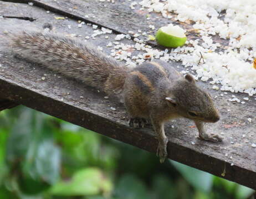
[(168, 25), (161, 27), (156, 32), (156, 41), (158, 44), (170, 48), (177, 48), (185, 44), (187, 37), (185, 30), (177, 25)]

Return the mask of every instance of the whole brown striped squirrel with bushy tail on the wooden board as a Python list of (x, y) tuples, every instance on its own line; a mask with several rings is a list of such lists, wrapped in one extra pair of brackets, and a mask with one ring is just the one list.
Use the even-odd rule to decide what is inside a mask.
[(141, 128), (151, 121), (161, 163), (166, 159), (168, 143), (164, 123), (170, 119), (192, 119), (199, 138), (222, 141), (204, 130), (203, 122), (214, 123), (220, 118), (211, 96), (196, 85), (192, 75), (183, 76), (171, 63), (153, 60), (130, 69), (88, 42), (58, 34), (22, 32), (8, 38), (12, 51), (24, 59), (121, 97), (131, 127)]

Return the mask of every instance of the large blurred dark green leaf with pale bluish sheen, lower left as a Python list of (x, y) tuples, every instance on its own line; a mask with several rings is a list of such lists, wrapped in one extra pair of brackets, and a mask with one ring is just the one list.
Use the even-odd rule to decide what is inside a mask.
[(8, 163), (16, 167), (19, 188), (28, 195), (46, 190), (59, 179), (60, 151), (45, 118), (45, 114), (24, 109), (8, 139)]

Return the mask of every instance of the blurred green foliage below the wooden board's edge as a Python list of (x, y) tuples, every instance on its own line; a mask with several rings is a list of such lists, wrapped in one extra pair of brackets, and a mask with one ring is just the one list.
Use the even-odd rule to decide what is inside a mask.
[(252, 198), (253, 190), (25, 107), (0, 113), (1, 199)]

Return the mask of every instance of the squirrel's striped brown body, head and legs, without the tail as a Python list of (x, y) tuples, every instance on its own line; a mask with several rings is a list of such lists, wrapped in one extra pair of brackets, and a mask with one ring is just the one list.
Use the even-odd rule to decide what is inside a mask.
[[(135, 76), (139, 77), (140, 81)], [(166, 98), (170, 98), (171, 101)], [(214, 108), (211, 97), (206, 91), (197, 87), (191, 75), (183, 77), (166, 62), (146, 62), (127, 75), (124, 100), (131, 118), (151, 121), (159, 140), (157, 155), (160, 156), (161, 162), (167, 156), (168, 142), (163, 124), (170, 119), (179, 117), (192, 119), (196, 123), (200, 138), (211, 142), (222, 140), (217, 135), (209, 136), (203, 128), (202, 122), (219, 120), (219, 114)]]

